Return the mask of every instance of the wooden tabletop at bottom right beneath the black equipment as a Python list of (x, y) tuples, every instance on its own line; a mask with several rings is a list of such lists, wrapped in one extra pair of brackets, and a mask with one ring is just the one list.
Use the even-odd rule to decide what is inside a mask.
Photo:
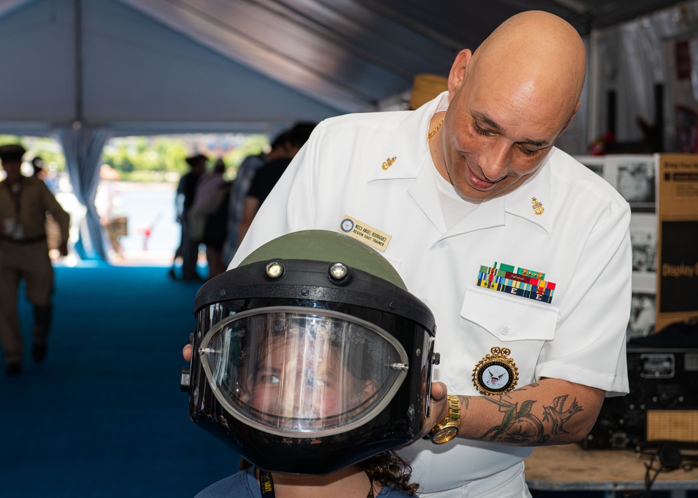
[[(682, 455), (692, 454), (686, 450)], [(630, 450), (585, 450), (577, 444), (534, 448), (526, 458), (526, 482), (530, 490), (604, 491), (615, 497), (616, 491), (641, 491), (646, 488), (645, 464), (650, 456)], [(653, 469), (660, 467), (655, 459)], [(654, 475), (652, 471), (651, 475)], [(698, 490), (698, 469), (662, 471), (652, 490), (671, 491), (671, 498), (683, 498), (687, 490)]]

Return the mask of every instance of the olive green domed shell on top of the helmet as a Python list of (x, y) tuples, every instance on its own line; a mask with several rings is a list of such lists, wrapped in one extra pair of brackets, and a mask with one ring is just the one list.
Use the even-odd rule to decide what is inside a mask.
[(407, 290), (399, 273), (380, 252), (339, 232), (301, 230), (282, 235), (255, 249), (239, 266), (276, 257), (342, 262)]

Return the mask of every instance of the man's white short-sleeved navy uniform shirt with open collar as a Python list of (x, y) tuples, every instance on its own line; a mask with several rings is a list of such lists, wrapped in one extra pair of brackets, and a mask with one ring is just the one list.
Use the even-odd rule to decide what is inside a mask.
[[(627, 393), (628, 203), (553, 148), (526, 183), (477, 204), (447, 228), (426, 140), (431, 117), (447, 105), (443, 93), (412, 112), (320, 123), (262, 205), (230, 267), (277, 236), (341, 232), (350, 218), (389, 236), (383, 255), (433, 312), (441, 356), (434, 379), (449, 393), (478, 395), (473, 370), (493, 347), (510, 350), (517, 387), (553, 377), (607, 395)], [(392, 164), (384, 168), (386, 162)], [(533, 197), (542, 214), (535, 213)], [(503, 265), (544, 274), (541, 280), (554, 285), (549, 302), (478, 285), (481, 271)], [(488, 476), (496, 482), (499, 472), (521, 467), (530, 450), (454, 439), (443, 446), (419, 441), (405, 455), (415, 481), (433, 492)]]

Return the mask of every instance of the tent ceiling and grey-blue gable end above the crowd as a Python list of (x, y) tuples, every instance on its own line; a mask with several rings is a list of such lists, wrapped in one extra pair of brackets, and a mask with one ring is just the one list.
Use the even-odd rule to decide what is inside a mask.
[(264, 131), (372, 110), (521, 10), (582, 34), (676, 0), (0, 0), (0, 133)]

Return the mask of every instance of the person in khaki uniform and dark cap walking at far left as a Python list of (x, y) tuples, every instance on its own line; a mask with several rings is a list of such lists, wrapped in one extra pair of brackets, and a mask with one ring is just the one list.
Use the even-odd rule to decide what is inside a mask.
[(61, 227), (61, 255), (68, 254), (70, 215), (46, 184), (20, 173), (24, 147), (0, 146), (6, 178), (0, 182), (0, 340), (7, 363), (6, 375), (22, 372), (24, 345), (17, 313), (17, 294), (24, 279), (27, 299), (34, 307), (32, 359), (46, 357), (51, 326), (53, 266), (46, 241), (46, 213)]

